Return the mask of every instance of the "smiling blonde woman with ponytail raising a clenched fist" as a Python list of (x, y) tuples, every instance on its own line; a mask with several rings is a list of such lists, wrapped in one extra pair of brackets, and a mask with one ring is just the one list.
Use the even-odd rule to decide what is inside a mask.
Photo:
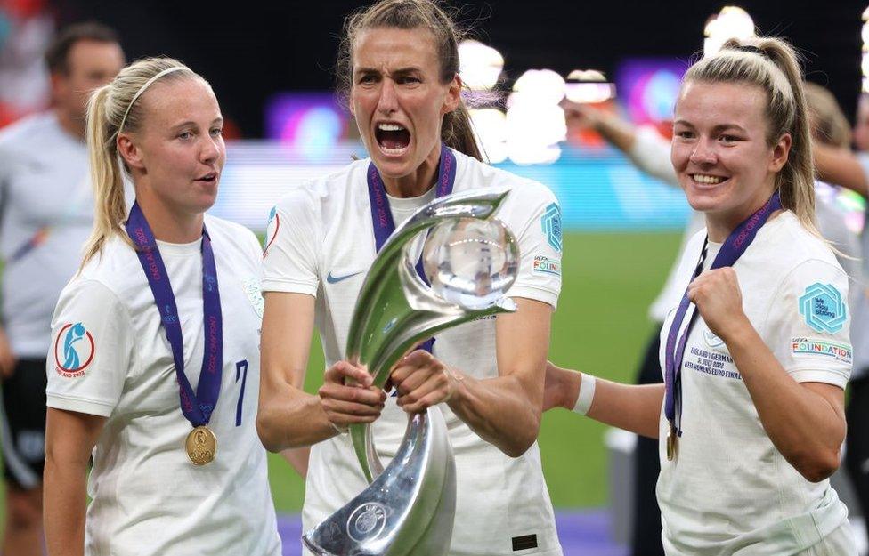
[(688, 69), (671, 162), (706, 230), (661, 334), (664, 384), (550, 364), (546, 407), (659, 439), (668, 556), (856, 556), (830, 486), (853, 357), (848, 277), (815, 226), (800, 67), (781, 40)]

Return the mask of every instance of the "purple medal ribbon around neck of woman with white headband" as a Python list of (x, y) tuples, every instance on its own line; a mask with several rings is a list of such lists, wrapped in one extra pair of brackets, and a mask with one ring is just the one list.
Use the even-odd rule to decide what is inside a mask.
[(175, 305), (175, 294), (172, 293), (169, 275), (160, 256), (157, 240), (138, 203), (134, 203), (130, 210), (130, 217), (126, 221), (126, 233), (137, 247), (136, 255), (142, 264), (145, 278), (148, 278), (150, 291), (154, 294), (154, 301), (157, 302), (160, 320), (166, 329), (166, 338), (172, 347), (172, 359), (175, 360), (175, 375), (181, 396), (181, 411), (193, 427), (206, 425), (211, 420), (211, 412), (217, 404), (223, 375), (223, 316), (220, 310), (217, 267), (215, 252), (211, 247), (211, 237), (208, 236), (203, 223), (202, 306), (206, 342), (199, 385), (194, 392), (187, 375), (184, 374), (184, 340), (178, 308)]

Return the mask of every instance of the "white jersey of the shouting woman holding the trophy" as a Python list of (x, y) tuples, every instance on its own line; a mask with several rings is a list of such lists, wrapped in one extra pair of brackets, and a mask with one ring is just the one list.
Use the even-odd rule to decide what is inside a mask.
[[(556, 198), (537, 182), (458, 152), (455, 155), (454, 191), (512, 188), (496, 215), (516, 235), (522, 257), (519, 278), (509, 295), (555, 307), (561, 288), (561, 223)], [(369, 163), (367, 159), (354, 162), (338, 173), (292, 190), (277, 205), (269, 225), (263, 291), (316, 296), (315, 319), (327, 365), (344, 359), (353, 307), (376, 254), (366, 181)], [(394, 211), (396, 225), (411, 213), (412, 206), (399, 206)], [(495, 319), (476, 320), (437, 334), (434, 352), (469, 375), (497, 376)], [(520, 457), (508, 457), (471, 431), (446, 404), (440, 407), (457, 464), (457, 518), (451, 554), (560, 555), (537, 445)], [(406, 425), (407, 415), (395, 405), (394, 398), (387, 399), (374, 425), (378, 452), (385, 462), (394, 455)], [(314, 445), (302, 513), (305, 530), (366, 486), (347, 435)], [(531, 535), (536, 535), (537, 548), (514, 552), (512, 540)]]

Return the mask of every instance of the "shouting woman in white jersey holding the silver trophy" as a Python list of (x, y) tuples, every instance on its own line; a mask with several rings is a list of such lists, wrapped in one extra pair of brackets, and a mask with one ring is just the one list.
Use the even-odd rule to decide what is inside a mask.
[[(481, 162), (461, 101), (455, 26), (437, 4), (378, 2), (348, 18), (343, 46), (338, 77), (370, 159), (294, 188), (272, 212), (260, 438), (272, 451), (311, 447), (302, 515), (308, 529), (368, 485), (345, 434), (349, 424), (374, 422), (386, 461), (407, 413), (440, 404), (458, 483), (450, 554), (558, 556), (536, 443), (550, 317), (561, 288), (556, 197)], [(397, 396), (387, 398), (370, 386), (364, 368), (344, 360), (365, 274), (394, 226), (419, 207), (486, 186), (511, 189), (498, 217), (516, 232), (522, 254), (508, 292), (518, 310), (425, 342), (396, 364), (390, 380)], [(302, 387), (315, 325), (329, 367), (319, 395), (310, 395)]]

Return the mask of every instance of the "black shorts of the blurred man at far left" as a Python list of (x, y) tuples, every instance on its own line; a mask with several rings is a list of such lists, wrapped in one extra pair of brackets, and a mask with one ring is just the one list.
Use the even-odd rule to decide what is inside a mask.
[(29, 490), (45, 468), (45, 359), (19, 359), (4, 380), (0, 439), (7, 484)]

